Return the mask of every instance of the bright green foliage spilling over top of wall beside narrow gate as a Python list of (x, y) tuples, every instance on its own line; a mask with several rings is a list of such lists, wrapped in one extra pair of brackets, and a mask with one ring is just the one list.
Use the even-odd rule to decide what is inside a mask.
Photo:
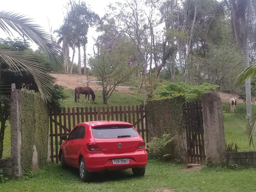
[(183, 82), (164, 82), (163, 84), (164, 86), (156, 92), (161, 98), (172, 98), (180, 95), (184, 96), (187, 101), (200, 99), (203, 93), (219, 88), (217, 85), (205, 82), (200, 86), (190, 86)]

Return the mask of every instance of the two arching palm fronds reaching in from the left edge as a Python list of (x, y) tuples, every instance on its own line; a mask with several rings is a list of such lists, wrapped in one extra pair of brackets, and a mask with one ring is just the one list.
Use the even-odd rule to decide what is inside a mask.
[[(27, 18), (22, 14), (1, 11), (0, 12), (0, 29), (9, 36), (13, 36), (12, 32), (18, 33), (20, 36), (28, 38), (35, 42), (35, 44), (43, 50), (49, 61), (50, 69), (58, 71), (62, 69), (61, 48), (52, 41), (52, 36), (42, 30), (39, 25), (33, 23), (33, 19)], [(15, 71), (24, 69), (30, 73), (38, 90), (41, 98), (44, 101), (51, 100), (51, 86), (52, 78), (47, 73), (44, 66), (36, 61), (36, 58), (26, 52), (11, 51), (0, 49), (0, 58), (3, 59), (7, 65)], [(1, 67), (0, 62), (0, 80), (1, 80)]]

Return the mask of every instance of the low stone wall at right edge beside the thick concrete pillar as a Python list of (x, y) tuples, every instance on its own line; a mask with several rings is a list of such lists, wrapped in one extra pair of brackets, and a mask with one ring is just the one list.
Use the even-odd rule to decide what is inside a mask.
[(227, 152), (228, 165), (256, 165), (256, 152)]

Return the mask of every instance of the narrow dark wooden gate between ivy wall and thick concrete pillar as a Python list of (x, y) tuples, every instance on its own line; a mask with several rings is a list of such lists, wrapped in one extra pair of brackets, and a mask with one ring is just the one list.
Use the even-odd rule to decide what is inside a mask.
[(188, 163), (205, 164), (202, 102), (184, 103)]

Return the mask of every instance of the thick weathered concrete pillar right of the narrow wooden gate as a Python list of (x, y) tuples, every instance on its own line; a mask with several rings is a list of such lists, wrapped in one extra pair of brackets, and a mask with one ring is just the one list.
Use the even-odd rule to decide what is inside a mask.
[(226, 146), (222, 102), (216, 91), (202, 94), (202, 111), (206, 164), (225, 164)]

